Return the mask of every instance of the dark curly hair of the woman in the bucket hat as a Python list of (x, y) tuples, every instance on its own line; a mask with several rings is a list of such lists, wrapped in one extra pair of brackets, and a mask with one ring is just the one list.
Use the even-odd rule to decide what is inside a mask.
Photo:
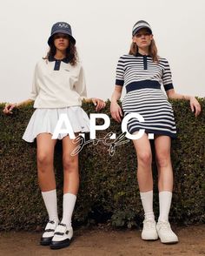
[[(54, 42), (50, 44), (50, 51), (48, 51), (46, 57), (43, 57), (43, 59), (49, 59), (49, 57), (54, 57), (56, 54), (56, 46), (54, 45)], [(72, 43), (71, 40), (69, 40), (69, 47), (66, 49), (66, 56), (69, 58), (69, 64), (72, 66), (76, 65), (78, 61), (78, 55), (76, 51), (76, 45)]]

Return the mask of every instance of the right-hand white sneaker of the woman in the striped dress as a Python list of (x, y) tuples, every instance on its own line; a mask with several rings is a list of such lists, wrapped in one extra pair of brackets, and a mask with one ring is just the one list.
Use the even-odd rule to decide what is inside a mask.
[(169, 221), (159, 220), (156, 224), (156, 230), (163, 244), (175, 244), (179, 241), (175, 232), (172, 231)]

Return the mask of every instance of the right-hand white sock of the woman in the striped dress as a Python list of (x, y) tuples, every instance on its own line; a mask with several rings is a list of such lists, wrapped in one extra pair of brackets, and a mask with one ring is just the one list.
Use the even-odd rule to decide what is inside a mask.
[(169, 210), (171, 206), (172, 192), (159, 192), (160, 216), (158, 220), (169, 220)]

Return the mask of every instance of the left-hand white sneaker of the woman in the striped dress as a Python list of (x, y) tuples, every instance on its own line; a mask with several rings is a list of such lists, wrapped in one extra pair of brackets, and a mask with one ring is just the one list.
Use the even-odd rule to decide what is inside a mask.
[(144, 219), (141, 236), (143, 240), (158, 239), (158, 234), (155, 229), (155, 219)]

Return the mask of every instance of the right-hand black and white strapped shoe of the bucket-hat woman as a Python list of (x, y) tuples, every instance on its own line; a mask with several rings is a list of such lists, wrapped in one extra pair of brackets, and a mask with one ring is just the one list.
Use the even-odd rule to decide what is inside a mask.
[(67, 227), (63, 223), (59, 223), (54, 232), (54, 237), (50, 242), (50, 249), (61, 249), (69, 246), (73, 237), (72, 226)]

